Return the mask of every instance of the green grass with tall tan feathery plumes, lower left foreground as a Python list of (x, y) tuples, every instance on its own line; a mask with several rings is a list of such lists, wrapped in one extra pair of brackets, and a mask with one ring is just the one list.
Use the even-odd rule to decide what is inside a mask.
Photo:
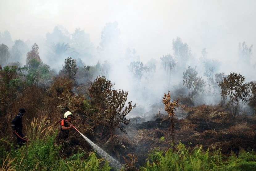
[[(110, 170), (108, 162), (98, 159), (95, 152), (85, 159), (79, 151), (63, 159), (59, 156), (61, 145), (56, 144), (57, 129), (50, 121), (34, 119), (27, 127), (27, 143), (20, 148), (1, 139), (0, 170)], [(8, 150), (6, 150), (8, 146)]]

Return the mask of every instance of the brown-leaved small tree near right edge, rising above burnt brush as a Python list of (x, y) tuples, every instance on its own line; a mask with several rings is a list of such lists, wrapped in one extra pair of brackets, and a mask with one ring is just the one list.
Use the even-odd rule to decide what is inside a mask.
[(244, 76), (242, 76), (240, 73), (237, 74), (233, 72), (230, 73), (228, 77), (224, 77), (223, 81), (219, 83), (223, 101), (225, 102), (225, 99), (229, 97), (226, 106), (228, 109), (230, 109), (230, 113), (232, 113), (233, 116), (236, 116), (238, 113), (240, 101), (247, 101), (248, 99), (249, 84), (243, 84), (244, 81)]

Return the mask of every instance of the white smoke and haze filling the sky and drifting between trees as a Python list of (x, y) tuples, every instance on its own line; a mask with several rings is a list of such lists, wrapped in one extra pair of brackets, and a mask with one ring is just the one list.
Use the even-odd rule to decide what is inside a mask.
[[(246, 61), (241, 60), (238, 50), (239, 43), (245, 42), (248, 47), (256, 44), (254, 0), (2, 0), (0, 9), (0, 44), (7, 45), (9, 51), (15, 42), (26, 51), (37, 43), (42, 61), (57, 71), (69, 56), (80, 58), (86, 65), (107, 61), (107, 79), (115, 83), (115, 89), (129, 91), (128, 100), (143, 106), (144, 113), (161, 102), (163, 93), (170, 90), (172, 95), (174, 86), (183, 87), (185, 68), (176, 65), (168, 76), (160, 59), (170, 54), (178, 61), (173, 50), (177, 38), (191, 50), (184, 66), (196, 66), (204, 81), (206, 59), (216, 64), (215, 73), (237, 72), (246, 77), (246, 82), (255, 80), (256, 48), (252, 47)], [(24, 48), (19, 52), (22, 65)], [(143, 63), (141, 78), (131, 73), (130, 62)], [(155, 70), (151, 64), (155, 64)], [(205, 96), (199, 103), (211, 104), (219, 98)]]

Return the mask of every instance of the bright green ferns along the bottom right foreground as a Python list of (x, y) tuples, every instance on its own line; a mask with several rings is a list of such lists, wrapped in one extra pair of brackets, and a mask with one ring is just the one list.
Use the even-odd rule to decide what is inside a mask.
[(202, 151), (202, 145), (191, 150), (179, 143), (175, 150), (162, 151), (155, 148), (140, 170), (255, 170), (255, 157), (254, 152), (243, 150), (238, 157), (235, 154), (226, 157), (221, 154), (220, 149), (210, 154), (209, 149)]

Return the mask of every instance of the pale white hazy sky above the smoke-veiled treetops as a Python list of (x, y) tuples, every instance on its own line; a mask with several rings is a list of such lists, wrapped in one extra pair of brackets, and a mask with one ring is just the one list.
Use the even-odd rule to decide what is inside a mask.
[(45, 37), (60, 24), (70, 33), (80, 27), (99, 46), (103, 27), (117, 21), (122, 43), (141, 59), (172, 54), (176, 37), (198, 57), (205, 47), (221, 59), (239, 42), (256, 44), (255, 18), (255, 0), (0, 0), (0, 31), (13, 40)]

